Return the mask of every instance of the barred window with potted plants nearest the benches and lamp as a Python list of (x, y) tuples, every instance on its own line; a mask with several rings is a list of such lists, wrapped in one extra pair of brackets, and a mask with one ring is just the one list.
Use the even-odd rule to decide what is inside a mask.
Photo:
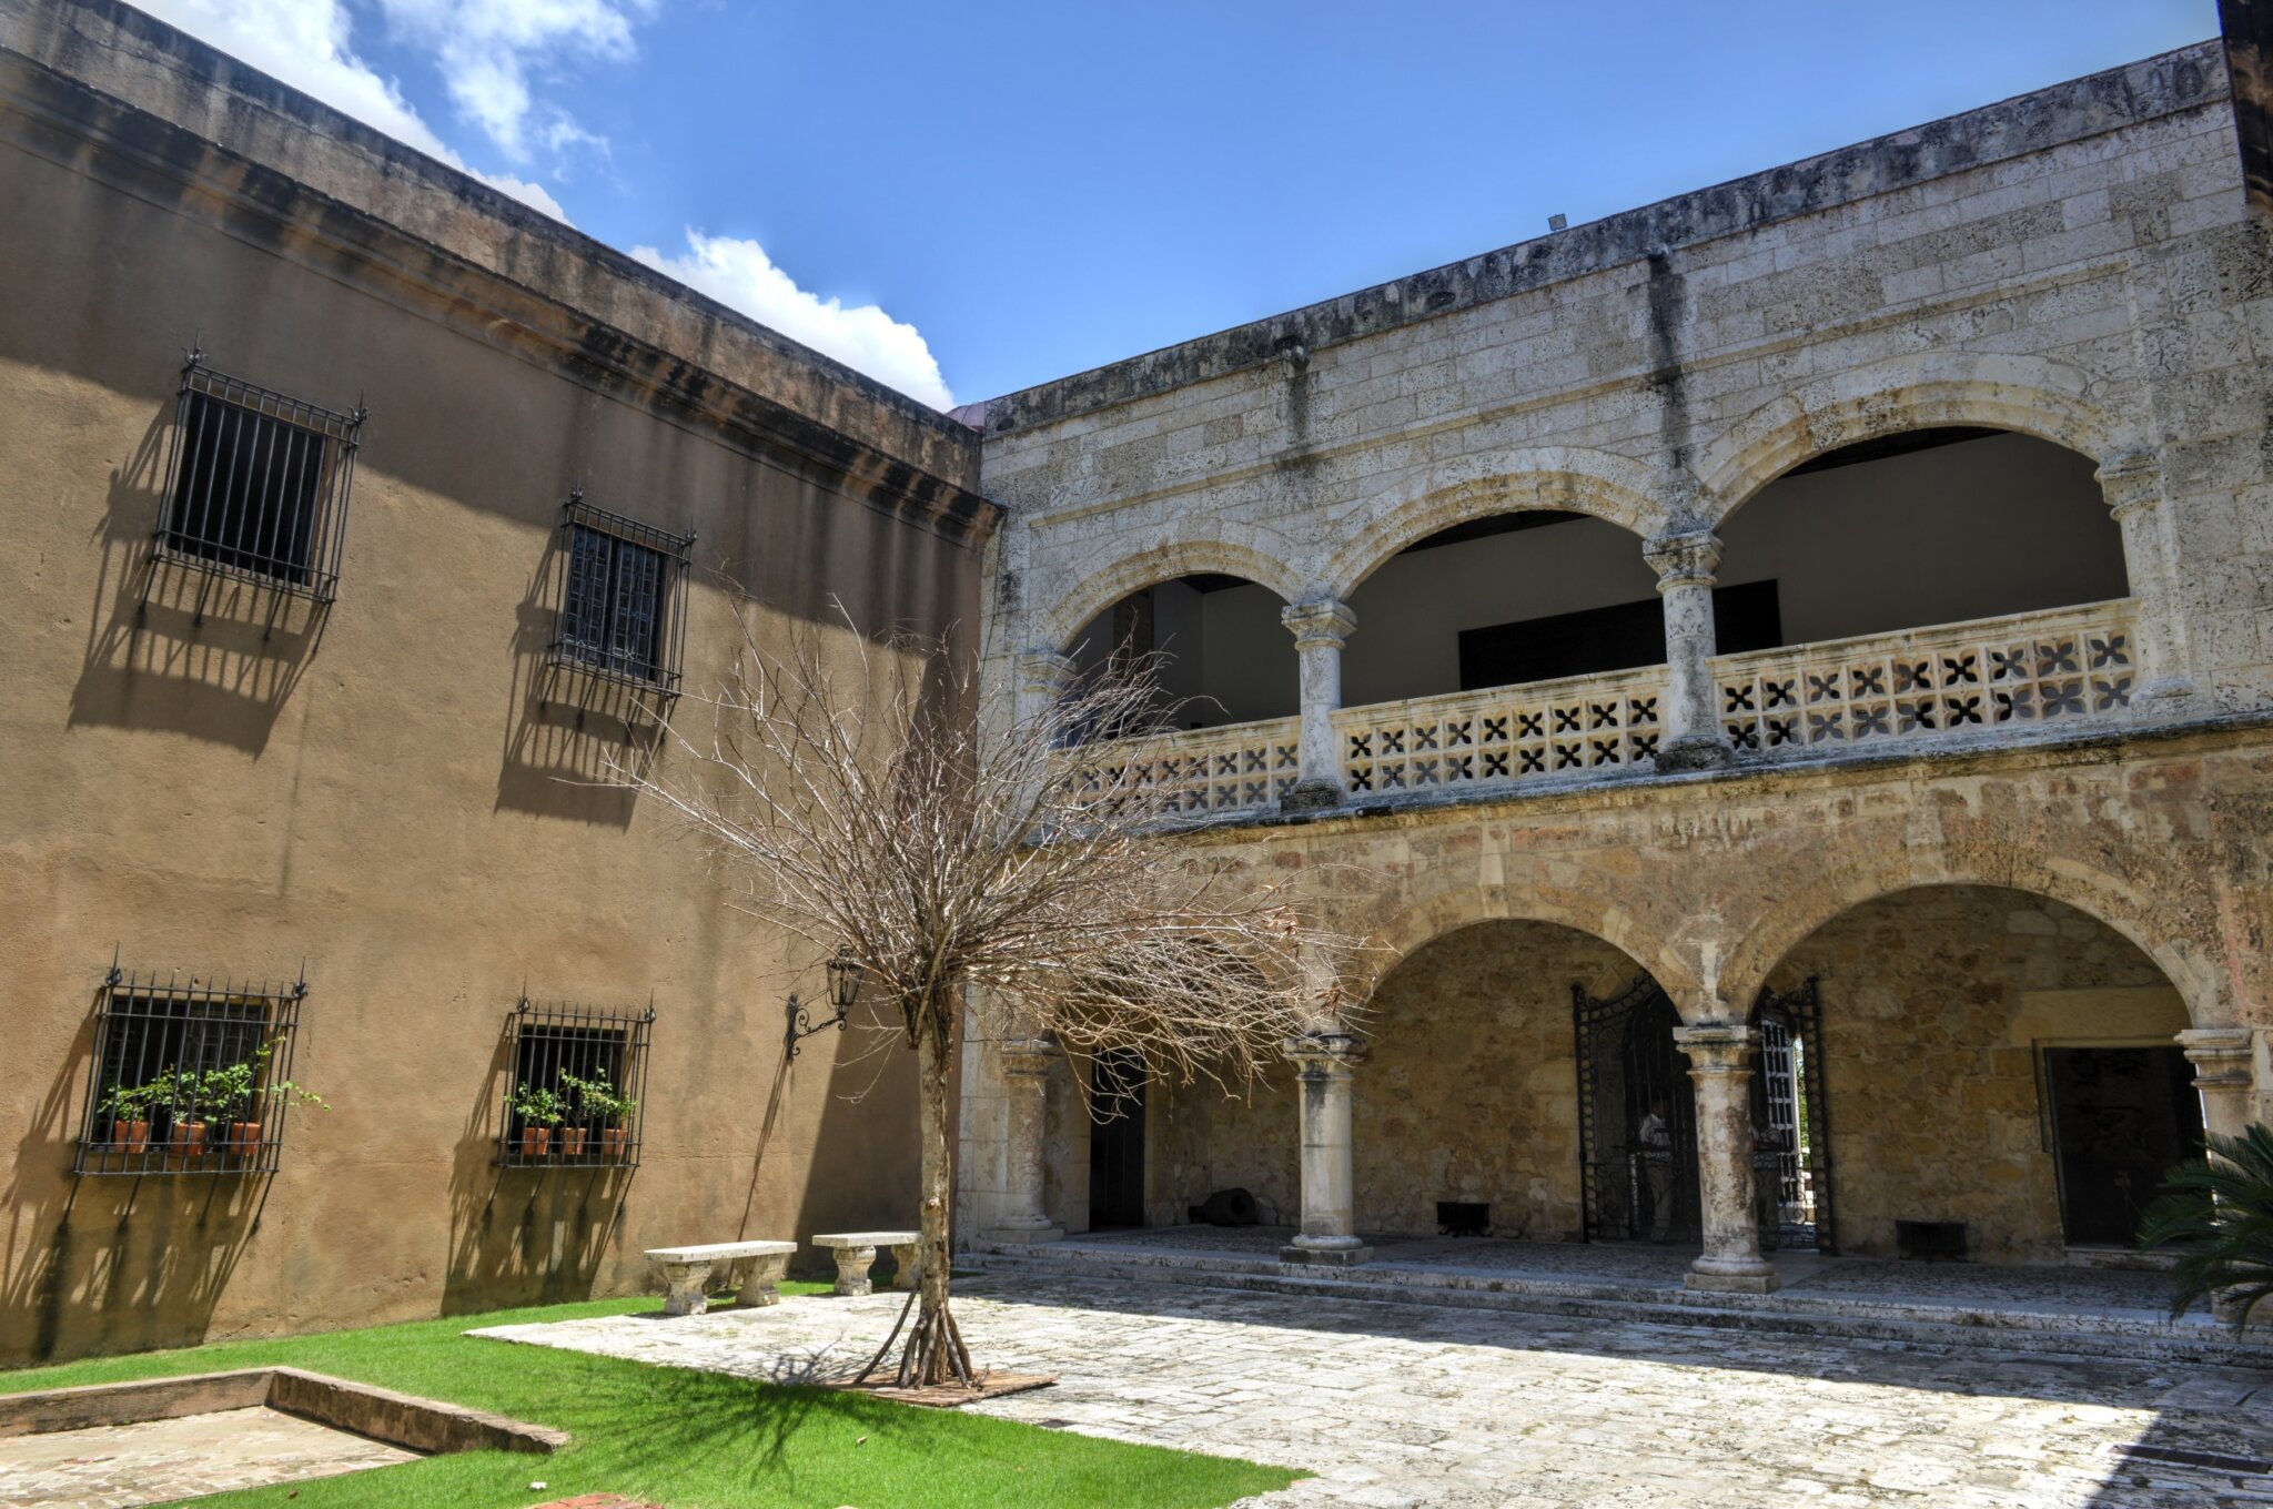
[[(648, 1029), (655, 1007), (646, 1011), (591, 1011), (575, 1004), (541, 1004), (523, 998), (507, 1023), (505, 1111), (498, 1139), (498, 1164), (505, 1168), (636, 1168), (641, 1123), (648, 1100)], [(632, 1109), (621, 1118), (593, 1111), (577, 1095), (575, 1082), (602, 1084), (627, 1098)], [(518, 1104), (530, 1095), (550, 1095), (559, 1120), (523, 1116)]]

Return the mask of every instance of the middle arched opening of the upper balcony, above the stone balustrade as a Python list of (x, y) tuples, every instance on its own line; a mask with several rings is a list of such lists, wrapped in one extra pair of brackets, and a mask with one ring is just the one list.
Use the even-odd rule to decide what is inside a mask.
[(1350, 707), (1555, 682), (1666, 659), (1657, 577), (1627, 530), (1559, 509), (1439, 530), (1352, 593)]

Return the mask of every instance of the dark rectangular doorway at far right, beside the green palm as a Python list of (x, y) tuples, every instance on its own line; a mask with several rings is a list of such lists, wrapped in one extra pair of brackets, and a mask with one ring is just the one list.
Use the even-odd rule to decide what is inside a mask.
[(2059, 1227), (2068, 1245), (2132, 1248), (2171, 1168), (2203, 1148), (2180, 1048), (2046, 1048)]

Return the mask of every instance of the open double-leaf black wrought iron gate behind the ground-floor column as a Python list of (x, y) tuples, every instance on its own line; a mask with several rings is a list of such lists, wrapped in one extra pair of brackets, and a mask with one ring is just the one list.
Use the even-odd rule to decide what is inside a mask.
[[(1612, 1000), (1571, 986), (1577, 1039), (1580, 1191), (1587, 1241), (1698, 1239), (1696, 1091), (1673, 1027), (1680, 1014), (1641, 975)], [(1816, 982), (1752, 1004), (1752, 1177), (1762, 1245), (1832, 1250), (1830, 1098)], [(1664, 1104), (1668, 1148), (1643, 1143)], [(1662, 1168), (1655, 1175), (1652, 1168)], [(1659, 1220), (1659, 1204), (1668, 1207)]]

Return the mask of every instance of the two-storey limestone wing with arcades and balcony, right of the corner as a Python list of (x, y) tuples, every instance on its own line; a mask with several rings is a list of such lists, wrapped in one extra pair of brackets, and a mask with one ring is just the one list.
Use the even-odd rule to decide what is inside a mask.
[(989, 405), (989, 675), (1171, 657), (1073, 779), (1377, 948), (1246, 1098), (973, 1034), (961, 1239), (2121, 1259), (2273, 1086), (2246, 43)]

